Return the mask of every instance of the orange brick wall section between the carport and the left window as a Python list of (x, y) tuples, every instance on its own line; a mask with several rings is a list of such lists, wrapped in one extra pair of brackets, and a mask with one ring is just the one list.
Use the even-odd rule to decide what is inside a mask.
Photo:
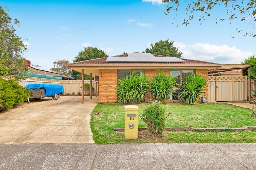
[(114, 103), (117, 101), (116, 86), (117, 69), (99, 69), (100, 103)]

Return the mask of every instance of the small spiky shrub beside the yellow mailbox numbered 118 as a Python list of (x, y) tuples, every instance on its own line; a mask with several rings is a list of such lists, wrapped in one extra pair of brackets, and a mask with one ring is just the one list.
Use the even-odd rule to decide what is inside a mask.
[(161, 136), (163, 133), (167, 118), (165, 112), (166, 109), (162, 107), (159, 101), (150, 101), (140, 115), (143, 122), (147, 124), (148, 130), (156, 136)]

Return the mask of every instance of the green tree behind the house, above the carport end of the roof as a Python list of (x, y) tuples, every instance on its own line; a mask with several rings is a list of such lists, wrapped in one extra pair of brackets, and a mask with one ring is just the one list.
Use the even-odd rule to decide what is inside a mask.
[[(73, 62), (80, 62), (84, 60), (90, 60), (95, 58), (102, 58), (102, 57), (108, 57), (108, 55), (103, 51), (96, 47), (85, 47), (82, 51), (78, 53), (76, 57), (74, 57)], [(81, 73), (72, 70), (71, 71), (71, 77), (75, 79), (81, 79)], [(89, 76), (84, 76), (85, 80), (89, 80)]]

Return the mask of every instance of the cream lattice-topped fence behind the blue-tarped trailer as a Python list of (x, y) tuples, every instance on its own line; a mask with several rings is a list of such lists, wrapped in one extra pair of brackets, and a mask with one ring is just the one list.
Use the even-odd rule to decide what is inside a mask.
[[(53, 79), (44, 79), (44, 78), (35, 78), (35, 77), (26, 77), (24, 80), (17, 80), (15, 75), (4, 75), (4, 76), (1, 76), (1, 78), (5, 80), (14, 79), (23, 87), (25, 87), (28, 84), (38, 84), (38, 83), (59, 84), (59, 85), (62, 85), (64, 88), (63, 95), (67, 95), (67, 94), (77, 95), (78, 93), (82, 94), (82, 80), (53, 80)], [(90, 80), (84, 80), (84, 83), (90, 84)], [(92, 86), (95, 89), (92, 95), (95, 95), (96, 83), (94, 80), (92, 81)], [(84, 95), (89, 95), (89, 91), (84, 90)]]

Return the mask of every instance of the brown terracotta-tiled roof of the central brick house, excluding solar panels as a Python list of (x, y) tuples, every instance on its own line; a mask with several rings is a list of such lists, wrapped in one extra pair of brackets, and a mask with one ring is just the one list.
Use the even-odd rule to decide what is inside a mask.
[[(155, 57), (168, 57), (153, 54)], [(128, 54), (116, 55), (116, 57), (128, 57)], [(115, 57), (115, 56), (112, 56)], [(108, 62), (107, 57), (85, 60), (80, 62), (69, 63), (67, 66), (222, 66), (222, 64), (204, 62), (199, 60), (190, 60), (181, 58), (182, 62)]]

